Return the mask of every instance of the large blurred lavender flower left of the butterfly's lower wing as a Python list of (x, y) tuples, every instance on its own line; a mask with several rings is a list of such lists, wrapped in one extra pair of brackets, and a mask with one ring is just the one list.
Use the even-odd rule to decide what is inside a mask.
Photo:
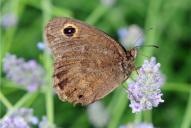
[(7, 54), (3, 59), (6, 77), (29, 92), (36, 91), (44, 83), (44, 70), (35, 60), (25, 62), (22, 58)]

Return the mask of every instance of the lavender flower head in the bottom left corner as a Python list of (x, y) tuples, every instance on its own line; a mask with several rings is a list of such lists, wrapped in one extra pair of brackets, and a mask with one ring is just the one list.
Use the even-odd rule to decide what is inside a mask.
[(21, 108), (14, 111), (10, 116), (0, 122), (1, 128), (30, 128), (38, 123), (37, 117), (33, 116), (33, 110)]

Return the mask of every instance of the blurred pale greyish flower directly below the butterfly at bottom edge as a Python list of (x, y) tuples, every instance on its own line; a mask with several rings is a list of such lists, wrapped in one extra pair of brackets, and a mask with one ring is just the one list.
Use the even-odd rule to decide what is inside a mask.
[(90, 104), (87, 108), (88, 116), (90, 122), (97, 128), (106, 126), (109, 115), (103, 106), (103, 104), (99, 101)]

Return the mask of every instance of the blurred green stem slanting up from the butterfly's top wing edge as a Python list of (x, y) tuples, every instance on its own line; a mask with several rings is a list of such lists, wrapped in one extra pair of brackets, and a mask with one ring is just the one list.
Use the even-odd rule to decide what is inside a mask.
[(108, 10), (109, 7), (104, 5), (99, 5), (86, 19), (89, 24), (95, 24)]

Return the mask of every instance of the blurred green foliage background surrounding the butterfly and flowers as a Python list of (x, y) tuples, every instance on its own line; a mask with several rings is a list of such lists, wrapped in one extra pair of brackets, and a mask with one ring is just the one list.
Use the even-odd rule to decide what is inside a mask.
[[(108, 0), (109, 1), (109, 0)], [(1, 19), (14, 13), (17, 24), (1, 26), (1, 92), (12, 104), (26, 95), (2, 72), (2, 58), (7, 52), (26, 60), (35, 59), (45, 66), (43, 52), (37, 48), (43, 42), (44, 26), (53, 17), (73, 17), (96, 26), (119, 40), (117, 30), (132, 24), (139, 25), (145, 34), (145, 44), (156, 44), (160, 48), (141, 48), (140, 53), (156, 56), (166, 77), (162, 91), (164, 103), (151, 111), (143, 112), (143, 121), (161, 128), (187, 128), (191, 121), (191, 1), (190, 0), (116, 0), (113, 5), (100, 0), (1, 0)], [(148, 30), (152, 28), (151, 30)], [(137, 66), (145, 57), (138, 56)], [(49, 61), (48, 61), (49, 62)], [(47, 63), (48, 63), (47, 62)], [(51, 75), (49, 75), (51, 76)], [(9, 84), (9, 86), (7, 86)], [(109, 106), (110, 120), (107, 127), (115, 128), (133, 122), (135, 114), (128, 107), (121, 88), (115, 90), (102, 102)], [(34, 96), (35, 95), (35, 96)], [(36, 96), (37, 95), (37, 96)], [(46, 114), (46, 95), (31, 94), (31, 103), (23, 106), (34, 108), (37, 116)], [(65, 128), (93, 127), (88, 119), (86, 107), (73, 106), (53, 97), (54, 123)], [(0, 103), (0, 117), (6, 107)], [(190, 119), (190, 120), (189, 120)], [(184, 127), (183, 127), (184, 126)]]

